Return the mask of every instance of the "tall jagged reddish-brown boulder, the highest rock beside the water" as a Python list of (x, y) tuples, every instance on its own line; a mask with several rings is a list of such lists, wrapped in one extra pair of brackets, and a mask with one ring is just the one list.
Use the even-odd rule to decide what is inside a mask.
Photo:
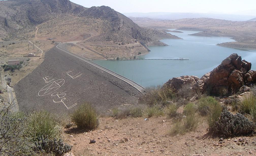
[(210, 72), (205, 80), (203, 92), (219, 94), (222, 88), (236, 92), (247, 83), (247, 80), (252, 81), (251, 75), (247, 74), (250, 69), (250, 62), (242, 60), (237, 54), (232, 54)]

